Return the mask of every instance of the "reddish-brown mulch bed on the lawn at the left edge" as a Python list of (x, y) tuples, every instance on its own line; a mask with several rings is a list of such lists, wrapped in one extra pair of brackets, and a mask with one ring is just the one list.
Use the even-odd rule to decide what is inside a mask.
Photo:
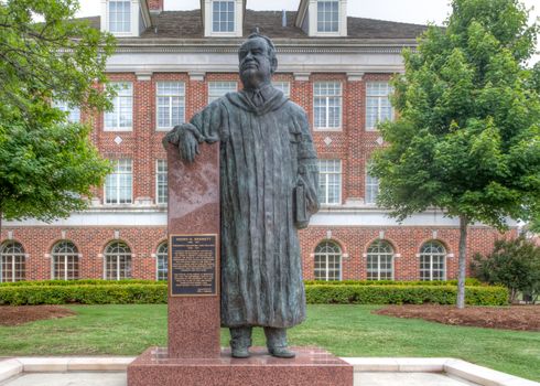
[(58, 305), (2, 305), (0, 307), (0, 325), (18, 325), (36, 320), (72, 317), (76, 313)]

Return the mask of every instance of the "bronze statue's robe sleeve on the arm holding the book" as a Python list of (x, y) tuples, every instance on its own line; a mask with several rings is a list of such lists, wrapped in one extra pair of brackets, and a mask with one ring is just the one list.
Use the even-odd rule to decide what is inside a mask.
[[(299, 181), (306, 187), (306, 193), (311, 200), (307, 200), (307, 211), (310, 215), (318, 211), (318, 162), (313, 137), (310, 131), (307, 116), (304, 111), (298, 119), (294, 119), (296, 130), (300, 132), (300, 143), (298, 151)], [(305, 224), (307, 225), (307, 224)]]

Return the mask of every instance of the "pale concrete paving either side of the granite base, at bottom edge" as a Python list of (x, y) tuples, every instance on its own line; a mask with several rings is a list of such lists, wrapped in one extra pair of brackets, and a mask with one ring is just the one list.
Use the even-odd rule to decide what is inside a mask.
[[(24, 374), (0, 386), (126, 386), (126, 373)], [(468, 386), (475, 385), (442, 374), (357, 373), (355, 386)]]

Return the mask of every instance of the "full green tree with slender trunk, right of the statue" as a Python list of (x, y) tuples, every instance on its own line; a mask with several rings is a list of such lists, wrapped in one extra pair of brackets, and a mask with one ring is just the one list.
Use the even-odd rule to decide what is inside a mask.
[(438, 207), (460, 219), (457, 307), (465, 307), (469, 224), (505, 229), (540, 205), (540, 97), (531, 57), (538, 25), (517, 0), (453, 0), (445, 28), (430, 26), (403, 53), (393, 79), (400, 115), (380, 130), (379, 204), (399, 219)]

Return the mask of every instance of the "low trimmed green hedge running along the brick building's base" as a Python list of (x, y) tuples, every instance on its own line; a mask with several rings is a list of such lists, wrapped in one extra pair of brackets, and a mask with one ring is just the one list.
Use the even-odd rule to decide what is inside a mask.
[[(305, 286), (311, 304), (454, 304), (456, 288), (452, 286)], [(0, 304), (141, 304), (166, 303), (165, 282), (79, 285), (79, 286), (4, 286), (0, 287)], [(467, 287), (471, 305), (505, 305), (508, 290), (504, 287)]]

